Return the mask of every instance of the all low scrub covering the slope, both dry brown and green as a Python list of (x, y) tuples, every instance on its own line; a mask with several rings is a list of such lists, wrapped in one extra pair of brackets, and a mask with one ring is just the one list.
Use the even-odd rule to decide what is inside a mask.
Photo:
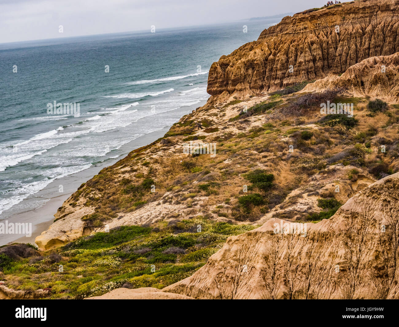
[[(320, 103), (327, 101), (354, 103), (355, 117), (320, 115)], [(330, 166), (351, 165), (341, 180), (348, 185), (361, 175), (379, 179), (397, 172), (399, 108), (377, 104), (381, 110), (369, 115), (375, 108), (369, 102), (339, 90), (287, 90), (246, 112), (234, 102), (198, 119), (187, 115), (165, 137), (82, 184), (57, 213), (68, 219), (84, 207), (88, 213), (81, 218), (96, 227), (151, 206), (147, 212), (162, 208), (156, 223), (86, 236), (37, 257), (10, 260), (0, 251), (0, 279), (15, 289), (51, 288), (52, 298), (82, 298), (122, 285), (162, 288), (192, 275), (228, 236), (255, 228), (276, 206), (288, 206), (293, 190), (309, 192), (308, 184), (327, 178)], [(221, 118), (240, 109), (229, 121)], [(188, 141), (215, 143), (217, 155), (185, 155)], [(343, 201), (334, 192), (320, 196), (316, 212), (278, 217), (328, 219)]]

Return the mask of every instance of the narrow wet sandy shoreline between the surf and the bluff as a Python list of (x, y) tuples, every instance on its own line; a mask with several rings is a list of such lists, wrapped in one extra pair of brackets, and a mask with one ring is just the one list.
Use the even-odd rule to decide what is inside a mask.
[[(197, 103), (196, 105), (203, 106), (206, 103), (206, 100), (201, 101), (201, 103)], [(183, 112), (181, 108), (175, 110), (180, 110)], [(191, 112), (192, 110), (192, 107), (190, 107), (189, 110), (186, 109), (184, 111)], [(180, 118), (184, 114), (180, 115)], [(144, 119), (150, 119), (149, 117), (150, 116), (144, 117)], [(54, 180), (48, 184), (45, 188), (43, 188), (43, 190), (40, 190), (38, 193), (36, 193), (34, 198), (27, 199), (27, 201), (38, 201), (39, 199), (47, 200), (43, 205), (35, 209), (13, 214), (8, 218), (3, 219), (4, 221), (8, 220), (9, 223), (32, 223), (32, 235), (26, 237), (21, 236), (21, 234), (2, 234), (0, 246), (14, 242), (34, 244), (36, 237), (41, 235), (42, 232), (48, 230), (53, 223), (54, 214), (57, 212), (57, 209), (62, 206), (63, 202), (65, 202), (65, 200), (67, 200), (67, 198), (69, 198), (69, 196), (71, 196), (71, 194), (73, 194), (83, 182), (87, 182), (87, 180), (98, 174), (98, 172), (104, 167), (112, 166), (113, 164), (117, 163), (120, 159), (126, 157), (126, 155), (134, 149), (148, 145), (160, 137), (163, 137), (166, 132), (169, 131), (171, 126), (172, 125), (169, 125), (157, 131), (142, 135), (137, 139), (122, 145), (122, 147), (120, 147), (122, 154), (115, 159), (106, 159), (104, 163), (93, 165), (90, 168)], [(59, 185), (63, 186), (62, 193), (59, 193), (58, 191)], [(34, 219), (34, 221), (32, 221), (32, 219)]]

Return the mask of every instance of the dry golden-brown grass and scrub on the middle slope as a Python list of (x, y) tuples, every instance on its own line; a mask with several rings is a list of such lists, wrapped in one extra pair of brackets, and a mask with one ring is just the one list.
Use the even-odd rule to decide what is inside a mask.
[[(397, 171), (399, 154), (395, 151), (399, 150), (396, 141), (399, 126), (393, 115), (397, 110), (391, 108), (386, 113), (369, 117), (365, 110), (366, 99), (341, 96), (337, 98), (339, 101), (355, 103), (358, 123), (348, 127), (340, 123), (325, 125), (325, 116), (306, 108), (328, 99), (332, 101), (338, 93), (339, 90), (283, 96), (282, 101), (288, 103), (285, 108), (275, 107), (272, 113), (260, 113), (239, 121), (228, 121), (228, 117), (234, 115), (229, 110), (239, 110), (237, 105), (234, 109), (223, 109), (226, 117), (217, 118), (215, 108), (187, 115), (172, 127), (173, 133), (168, 134), (175, 136), (134, 150), (115, 165), (103, 169), (73, 194), (69, 202), (77, 202), (75, 207), (67, 206), (59, 210), (58, 215), (68, 214), (87, 203), (94, 212), (115, 218), (115, 213), (134, 212), (140, 206), (159, 202), (186, 208), (178, 219), (200, 212), (213, 219), (254, 221), (284, 201), (290, 191), (306, 185), (311, 176), (329, 164), (354, 164), (366, 170), (373, 169), (374, 173)], [(302, 116), (291, 117), (298, 113)], [(201, 127), (198, 121), (202, 122)], [(203, 134), (209, 128), (215, 132)], [(188, 139), (181, 134), (189, 132), (188, 129), (192, 133), (190, 140), (200, 136), (199, 143), (216, 143), (216, 157), (183, 154), (182, 146)], [(303, 134), (304, 131), (307, 134)], [(385, 141), (382, 137), (389, 142), (386, 154), (378, 153), (379, 143)], [(356, 144), (362, 147), (360, 152), (355, 151)], [(365, 144), (370, 147), (365, 148)], [(288, 152), (290, 145), (292, 153)], [(269, 193), (256, 188), (251, 190), (262, 193), (265, 205), (245, 212), (238, 204), (238, 198), (244, 194), (243, 185), (248, 184), (243, 174), (256, 169), (273, 174), (275, 185)], [(140, 188), (146, 179), (154, 181), (155, 193), (148, 188), (142, 192), (121, 192), (126, 185), (132, 185), (135, 190)], [(199, 187), (207, 183), (216, 184), (209, 189)], [(166, 212), (164, 216), (170, 214), (172, 212)]]

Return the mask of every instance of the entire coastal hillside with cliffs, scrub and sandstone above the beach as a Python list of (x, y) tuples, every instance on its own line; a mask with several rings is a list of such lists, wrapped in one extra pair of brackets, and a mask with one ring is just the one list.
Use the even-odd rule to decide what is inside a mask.
[(0, 248), (4, 296), (397, 298), (398, 6), (308, 10), (221, 57), (207, 104), (83, 183), (39, 251)]

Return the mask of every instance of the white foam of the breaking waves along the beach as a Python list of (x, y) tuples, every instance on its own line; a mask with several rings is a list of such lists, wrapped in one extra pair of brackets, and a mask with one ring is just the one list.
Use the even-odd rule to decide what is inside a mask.
[[(18, 188), (18, 191), (16, 190), (14, 192), (14, 190), (12, 190), (4, 194), (7, 198), (4, 198), (4, 201), (3, 198), (0, 198), (0, 213), (23, 201), (31, 194), (35, 194), (39, 190), (42, 190), (54, 179), (61, 178), (63, 175), (66, 176), (68, 174), (73, 174), (73, 170), (76, 172), (76, 169), (79, 167), (81, 167), (79, 168), (79, 171), (88, 168), (91, 164), (87, 161), (91, 160), (91, 157), (106, 156), (107, 153), (115, 149), (115, 147), (119, 148), (122, 144), (130, 142), (132, 139), (136, 139), (140, 135), (162, 129), (165, 119), (167, 120), (169, 117), (169, 114), (167, 113), (168, 111), (178, 109), (182, 106), (194, 105), (200, 101), (206, 100), (209, 96), (206, 93), (206, 87), (194, 87), (192, 89), (181, 91), (180, 93), (170, 93), (170, 95), (166, 97), (156, 97), (156, 95), (172, 91), (174, 91), (174, 89), (171, 88), (160, 92), (138, 94), (154, 97), (151, 100), (148, 98), (143, 101), (145, 107), (150, 107), (150, 105), (156, 104), (157, 113), (154, 115), (154, 118), (150, 118), (150, 120), (153, 119), (154, 125), (150, 124), (150, 126), (146, 127), (141, 126), (142, 124), (140, 125), (139, 122), (134, 125), (136, 126), (134, 131), (133, 129), (123, 129), (126, 126), (137, 122), (139, 119), (151, 115), (149, 110), (137, 111), (136, 109), (133, 110), (133, 108), (129, 109), (139, 104), (138, 102), (133, 102), (126, 105), (115, 106), (113, 108), (101, 108), (103, 111), (102, 113), (86, 113), (84, 115), (87, 119), (80, 124), (73, 123), (68, 125), (68, 128), (58, 127), (56, 130), (35, 135), (28, 141), (18, 143), (17, 153), (12, 152), (12, 147), (3, 147), (0, 149), (0, 167), (2, 167), (2, 164), (3, 166), (5, 164), (8, 166), (10, 163), (17, 164), (32, 157), (36, 158), (30, 160), (29, 163), (43, 166), (46, 165), (50, 159), (53, 160), (53, 164), (56, 165), (55, 168), (46, 170), (45, 176), (48, 178), (45, 180), (36, 182), (36, 184), (17, 186), (16, 188)], [(137, 94), (133, 93), (127, 94), (129, 94), (129, 97), (137, 96)], [(121, 97), (121, 95), (108, 97)], [(142, 103), (140, 102), (140, 104)], [(159, 115), (159, 119), (155, 117), (157, 115)], [(114, 130), (115, 132), (111, 132), (107, 137), (102, 137), (101, 135), (99, 135), (99, 137), (94, 137), (95, 134), (92, 134), (111, 130)], [(77, 139), (77, 137), (82, 134), (88, 135)], [(47, 154), (43, 154), (47, 151), (46, 149), (51, 149), (71, 141), (71, 145), (67, 147), (59, 147), (53, 151), (48, 151)], [(12, 146), (12, 144), (10, 144), (10, 146)], [(120, 157), (120, 155), (110, 157), (109, 159), (116, 159), (118, 157)], [(2, 159), (5, 159), (5, 162), (3, 162)], [(88, 166), (85, 166), (86, 164), (88, 164)], [(11, 170), (11, 172), (14, 171)], [(26, 182), (27, 181), (24, 180), (24, 183)]]

